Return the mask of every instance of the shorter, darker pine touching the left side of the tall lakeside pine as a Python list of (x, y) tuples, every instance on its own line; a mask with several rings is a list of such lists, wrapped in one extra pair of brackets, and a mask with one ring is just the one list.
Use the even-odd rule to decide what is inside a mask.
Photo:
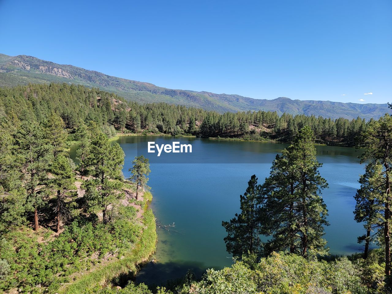
[(257, 180), (256, 175), (253, 175), (245, 193), (240, 195), (241, 213), (236, 214), (230, 222), (222, 221), (222, 226), (228, 233), (224, 238), (226, 250), (240, 258), (243, 255), (260, 256), (261, 254), (261, 224), (258, 214), (261, 186), (258, 185)]

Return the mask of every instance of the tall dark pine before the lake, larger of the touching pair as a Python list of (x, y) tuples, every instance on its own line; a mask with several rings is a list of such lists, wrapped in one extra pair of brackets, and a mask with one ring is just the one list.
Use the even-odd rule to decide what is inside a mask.
[(303, 256), (309, 248), (324, 251), (327, 208), (319, 193), (327, 183), (319, 167), (313, 132), (305, 126), (295, 142), (276, 157), (263, 185), (266, 201), (260, 211), (269, 220), (264, 230), (272, 234), (268, 250), (288, 249)]

